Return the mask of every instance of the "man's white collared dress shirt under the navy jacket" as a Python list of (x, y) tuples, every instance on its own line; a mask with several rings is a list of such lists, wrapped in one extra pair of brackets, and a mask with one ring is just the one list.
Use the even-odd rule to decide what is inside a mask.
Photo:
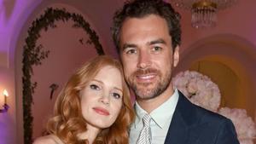
[[(150, 121), (152, 144), (164, 144), (177, 100), (178, 92), (175, 89), (173, 95), (167, 101), (149, 113), (152, 118)], [(131, 124), (130, 144), (136, 144), (138, 136), (143, 129), (143, 116), (147, 113), (138, 105), (137, 101), (135, 102), (135, 112), (137, 116), (135, 122)]]

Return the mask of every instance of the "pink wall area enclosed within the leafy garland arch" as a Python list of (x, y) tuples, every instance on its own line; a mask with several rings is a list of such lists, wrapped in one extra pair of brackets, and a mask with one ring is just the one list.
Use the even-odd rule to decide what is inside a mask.
[[(41, 66), (34, 67), (32, 77), (33, 81), (38, 82), (32, 106), (34, 137), (38, 137), (43, 132), (44, 124), (53, 112), (55, 98), (67, 79), (84, 61), (97, 55), (93, 45), (86, 44), (86, 40), (89, 39), (86, 32), (72, 27), (73, 21), (70, 20), (68, 23), (59, 21), (56, 22), (56, 26), (55, 29), (41, 32), (41, 38), (38, 39), (38, 43), (44, 45), (44, 49), (50, 50), (50, 53)], [(84, 44), (79, 43), (80, 38), (84, 39)], [(49, 99), (51, 84), (59, 85), (52, 100)]]

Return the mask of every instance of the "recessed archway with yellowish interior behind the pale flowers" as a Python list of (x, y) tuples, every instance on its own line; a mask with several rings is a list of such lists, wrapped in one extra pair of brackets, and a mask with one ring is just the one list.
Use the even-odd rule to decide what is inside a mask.
[(242, 37), (231, 34), (206, 37), (183, 51), (175, 73), (189, 69), (206, 74), (218, 84), (223, 106), (244, 108), (254, 118), (255, 55), (256, 47)]

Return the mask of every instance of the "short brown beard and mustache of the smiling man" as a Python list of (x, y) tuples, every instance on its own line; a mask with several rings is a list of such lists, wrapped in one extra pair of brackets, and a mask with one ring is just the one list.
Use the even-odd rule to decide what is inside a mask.
[[(155, 77), (157, 80), (154, 80), (153, 83), (137, 83), (137, 75), (146, 75), (148, 73), (156, 73)], [(147, 70), (137, 70), (126, 79), (131, 89), (137, 96), (137, 99), (148, 100), (157, 97), (168, 88), (172, 80), (172, 73), (171, 70), (169, 70), (166, 72), (166, 74), (162, 75), (160, 71), (153, 68), (148, 68)], [(152, 84), (154, 85), (153, 87), (150, 86)]]

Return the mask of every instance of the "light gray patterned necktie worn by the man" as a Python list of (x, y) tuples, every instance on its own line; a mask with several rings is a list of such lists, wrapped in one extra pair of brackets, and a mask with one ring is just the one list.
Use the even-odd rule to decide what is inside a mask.
[(143, 130), (139, 135), (137, 144), (151, 144), (150, 140), (150, 120), (151, 117), (149, 114), (145, 114), (143, 117)]

